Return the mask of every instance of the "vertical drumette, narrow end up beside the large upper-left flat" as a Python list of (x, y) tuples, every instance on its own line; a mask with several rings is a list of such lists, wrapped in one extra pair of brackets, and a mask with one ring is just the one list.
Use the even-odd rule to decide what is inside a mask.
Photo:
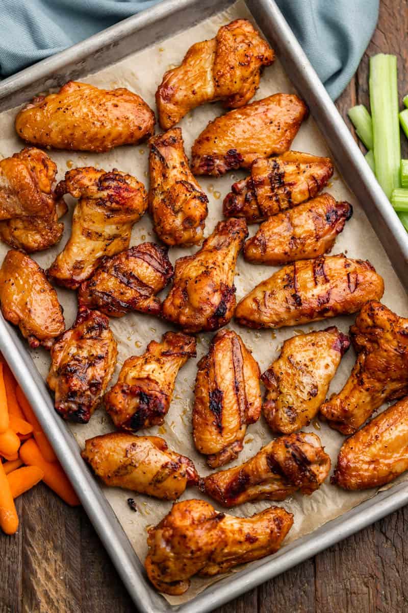
[(202, 241), (208, 198), (188, 167), (180, 128), (149, 141), (149, 208), (154, 230), (166, 245)]

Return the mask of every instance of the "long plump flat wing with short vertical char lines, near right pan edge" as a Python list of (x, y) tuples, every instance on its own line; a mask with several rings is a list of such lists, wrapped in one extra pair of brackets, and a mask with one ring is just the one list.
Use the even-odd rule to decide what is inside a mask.
[(356, 313), (380, 299), (384, 281), (368, 261), (343, 254), (287, 264), (237, 305), (235, 317), (250, 328), (297, 326)]

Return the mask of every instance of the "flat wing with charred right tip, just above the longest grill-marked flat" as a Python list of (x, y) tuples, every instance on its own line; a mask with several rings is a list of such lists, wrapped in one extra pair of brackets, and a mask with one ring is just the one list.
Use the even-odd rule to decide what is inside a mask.
[(243, 257), (276, 265), (322, 256), (332, 249), (352, 211), (351, 204), (336, 202), (330, 194), (317, 196), (264, 221), (245, 243)]

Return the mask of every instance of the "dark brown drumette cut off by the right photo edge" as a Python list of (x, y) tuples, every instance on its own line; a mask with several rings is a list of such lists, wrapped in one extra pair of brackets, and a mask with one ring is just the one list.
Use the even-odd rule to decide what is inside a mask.
[(408, 394), (408, 319), (365, 304), (350, 328), (357, 360), (341, 392), (321, 406), (328, 424), (354, 433), (387, 400)]

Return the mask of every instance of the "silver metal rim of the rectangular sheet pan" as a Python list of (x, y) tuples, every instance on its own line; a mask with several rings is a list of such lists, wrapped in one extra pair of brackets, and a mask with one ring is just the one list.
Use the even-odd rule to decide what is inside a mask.
[[(70, 49), (21, 71), (0, 83), (0, 111), (26, 101), (40, 90), (60, 86), (69, 78), (108, 66), (129, 53), (165, 39), (232, 4), (233, 0), (166, 0)], [(286, 21), (272, 0), (247, 0), (248, 8), (275, 47), (288, 77), (310, 106), (312, 115), (349, 187), (408, 289), (408, 241), (395, 211), (379, 188), (350, 132), (328, 97)], [(84, 509), (111, 556), (125, 587), (143, 613), (180, 611), (204, 613), (236, 598), (311, 555), (408, 503), (408, 485), (399, 484), (377, 495), (310, 535), (283, 547), (269, 559), (251, 563), (243, 571), (204, 590), (194, 600), (170, 606), (150, 587), (143, 567), (97, 482), (80, 457), (78, 444), (56, 416), (45, 383), (15, 329), (0, 317), (0, 349), (10, 364), (56, 454), (76, 489)]]

